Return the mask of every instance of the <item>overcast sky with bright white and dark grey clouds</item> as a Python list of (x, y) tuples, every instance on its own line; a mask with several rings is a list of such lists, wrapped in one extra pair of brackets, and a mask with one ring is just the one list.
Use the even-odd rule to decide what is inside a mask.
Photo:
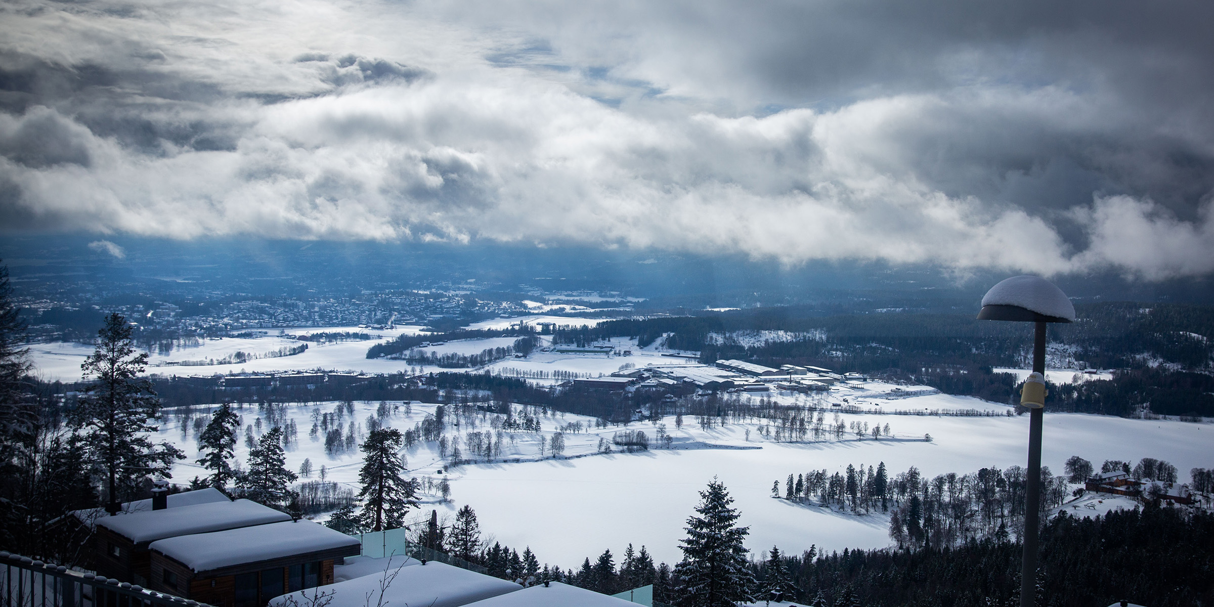
[(1210, 23), (1208, 0), (10, 0), (0, 223), (1201, 276)]

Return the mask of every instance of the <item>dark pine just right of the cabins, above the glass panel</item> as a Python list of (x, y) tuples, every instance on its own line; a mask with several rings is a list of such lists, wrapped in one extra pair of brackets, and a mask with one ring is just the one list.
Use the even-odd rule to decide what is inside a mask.
[(403, 435), (395, 429), (379, 429), (367, 436), (362, 450), (363, 469), (358, 482), (363, 488), (363, 526), (373, 532), (395, 529), (404, 524), (410, 507), (418, 507), (418, 482), (405, 480), (404, 461), (399, 455)]

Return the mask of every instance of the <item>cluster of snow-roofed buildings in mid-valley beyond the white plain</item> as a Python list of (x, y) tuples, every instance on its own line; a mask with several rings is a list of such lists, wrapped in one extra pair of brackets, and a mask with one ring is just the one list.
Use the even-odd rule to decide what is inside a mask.
[(623, 369), (606, 378), (575, 379), (571, 386), (625, 390), (674, 388), (690, 385), (703, 391), (726, 392), (819, 392), (840, 381), (864, 380), (858, 373), (839, 374), (821, 367), (785, 364), (776, 369), (747, 361), (717, 361), (715, 365), (688, 364)]

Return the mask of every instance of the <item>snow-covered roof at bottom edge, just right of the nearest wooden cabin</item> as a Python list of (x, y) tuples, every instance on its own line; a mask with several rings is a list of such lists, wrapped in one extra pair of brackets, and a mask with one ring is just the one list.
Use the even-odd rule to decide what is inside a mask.
[[(393, 571), (388, 571), (388, 575)], [(334, 594), (329, 607), (364, 607), (368, 592), (373, 592), (373, 605), (380, 602), (380, 582), (382, 579), (385, 579), (382, 573), (379, 575), (365, 575), (324, 586), (322, 591), (331, 591)], [(384, 591), (382, 602), (398, 606), (458, 607), (473, 601), (481, 601), (482, 599), (521, 591), (522, 586), (514, 582), (430, 561), (426, 565), (401, 568), (396, 578), (387, 586), (387, 590)], [(313, 592), (314, 590), (308, 591), (310, 595)], [(291, 595), (272, 599), (270, 607), (287, 606), (287, 597), (293, 595), (297, 603), (305, 603), (301, 592), (293, 592)], [(632, 607), (636, 606), (634, 605)]]

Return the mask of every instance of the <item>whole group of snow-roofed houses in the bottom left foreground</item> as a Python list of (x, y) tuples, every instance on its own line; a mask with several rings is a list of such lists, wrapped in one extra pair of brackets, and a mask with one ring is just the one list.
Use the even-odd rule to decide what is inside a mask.
[(75, 512), (73, 520), (93, 528), (98, 575), (216, 607), (365, 607), (369, 596), (375, 605), (429, 607), (653, 605), (652, 590), (629, 592), (649, 597), (629, 602), (561, 583), (509, 582), (407, 550), (362, 556), (361, 537), (217, 489), (170, 495), (160, 484), (152, 493), (114, 515)]

